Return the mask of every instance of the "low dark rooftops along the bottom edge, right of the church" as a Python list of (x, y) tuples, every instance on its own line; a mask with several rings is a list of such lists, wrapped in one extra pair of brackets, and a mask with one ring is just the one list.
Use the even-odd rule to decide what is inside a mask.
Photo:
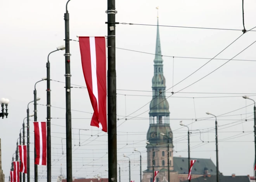
[[(250, 182), (250, 179), (248, 176), (219, 176), (220, 182)], [(186, 180), (185, 182), (188, 182), (189, 180)], [(198, 178), (191, 179), (191, 182), (216, 182), (216, 175), (213, 176), (201, 176)]]

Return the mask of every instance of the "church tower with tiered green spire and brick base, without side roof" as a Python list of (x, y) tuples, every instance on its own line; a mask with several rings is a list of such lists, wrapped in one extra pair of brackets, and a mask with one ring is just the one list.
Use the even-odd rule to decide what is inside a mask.
[[(143, 172), (142, 182), (152, 182), (154, 171), (159, 171), (155, 182), (168, 182), (168, 160), (170, 162), (170, 182), (178, 182), (178, 173), (173, 170), (173, 134), (170, 128), (169, 104), (165, 95), (165, 78), (161, 53), (160, 34), (157, 17), (156, 55), (154, 76), (152, 78), (152, 100), (149, 112), (149, 130), (147, 132), (147, 170)], [(165, 136), (161, 135), (164, 133)], [(167, 139), (169, 138), (168, 159)], [(154, 150), (153, 150), (154, 148)]]

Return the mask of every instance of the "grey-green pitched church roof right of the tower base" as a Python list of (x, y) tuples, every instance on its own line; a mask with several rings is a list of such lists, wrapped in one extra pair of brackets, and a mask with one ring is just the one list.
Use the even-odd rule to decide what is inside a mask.
[[(211, 159), (206, 158), (190, 158), (190, 160), (197, 160), (192, 168), (192, 174), (204, 175), (204, 170), (208, 168), (208, 173), (211, 175), (216, 175), (216, 166)], [(185, 157), (173, 157), (173, 167), (174, 171), (180, 174), (189, 173), (189, 163), (188, 158)]]

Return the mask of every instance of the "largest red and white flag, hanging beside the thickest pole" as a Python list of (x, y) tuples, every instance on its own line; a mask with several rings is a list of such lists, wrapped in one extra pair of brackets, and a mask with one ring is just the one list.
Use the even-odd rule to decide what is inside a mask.
[(83, 75), (94, 111), (91, 126), (107, 132), (105, 37), (79, 37), (79, 45)]

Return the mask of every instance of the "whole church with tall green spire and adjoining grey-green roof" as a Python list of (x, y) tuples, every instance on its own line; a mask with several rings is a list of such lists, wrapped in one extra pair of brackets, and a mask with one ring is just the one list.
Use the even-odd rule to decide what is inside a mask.
[[(152, 100), (149, 111), (149, 129), (147, 140), (150, 144), (147, 148), (147, 170), (143, 171), (142, 182), (153, 181), (154, 170), (160, 171), (157, 174), (156, 182), (168, 182), (168, 136), (170, 142), (170, 182), (182, 182), (187, 180), (188, 176), (188, 158), (173, 157), (173, 133), (170, 127), (169, 104), (166, 100), (165, 78), (163, 74), (163, 58), (161, 53), (160, 34), (157, 17), (157, 34), (156, 34), (156, 53), (154, 59), (154, 76), (152, 78)], [(161, 135), (164, 133), (165, 136)], [(154, 146), (154, 152), (152, 151)], [(153, 160), (154, 158), (154, 160)], [(193, 159), (193, 158), (191, 158)], [(197, 158), (192, 170), (192, 178), (203, 175), (216, 175), (216, 166), (211, 159)]]

